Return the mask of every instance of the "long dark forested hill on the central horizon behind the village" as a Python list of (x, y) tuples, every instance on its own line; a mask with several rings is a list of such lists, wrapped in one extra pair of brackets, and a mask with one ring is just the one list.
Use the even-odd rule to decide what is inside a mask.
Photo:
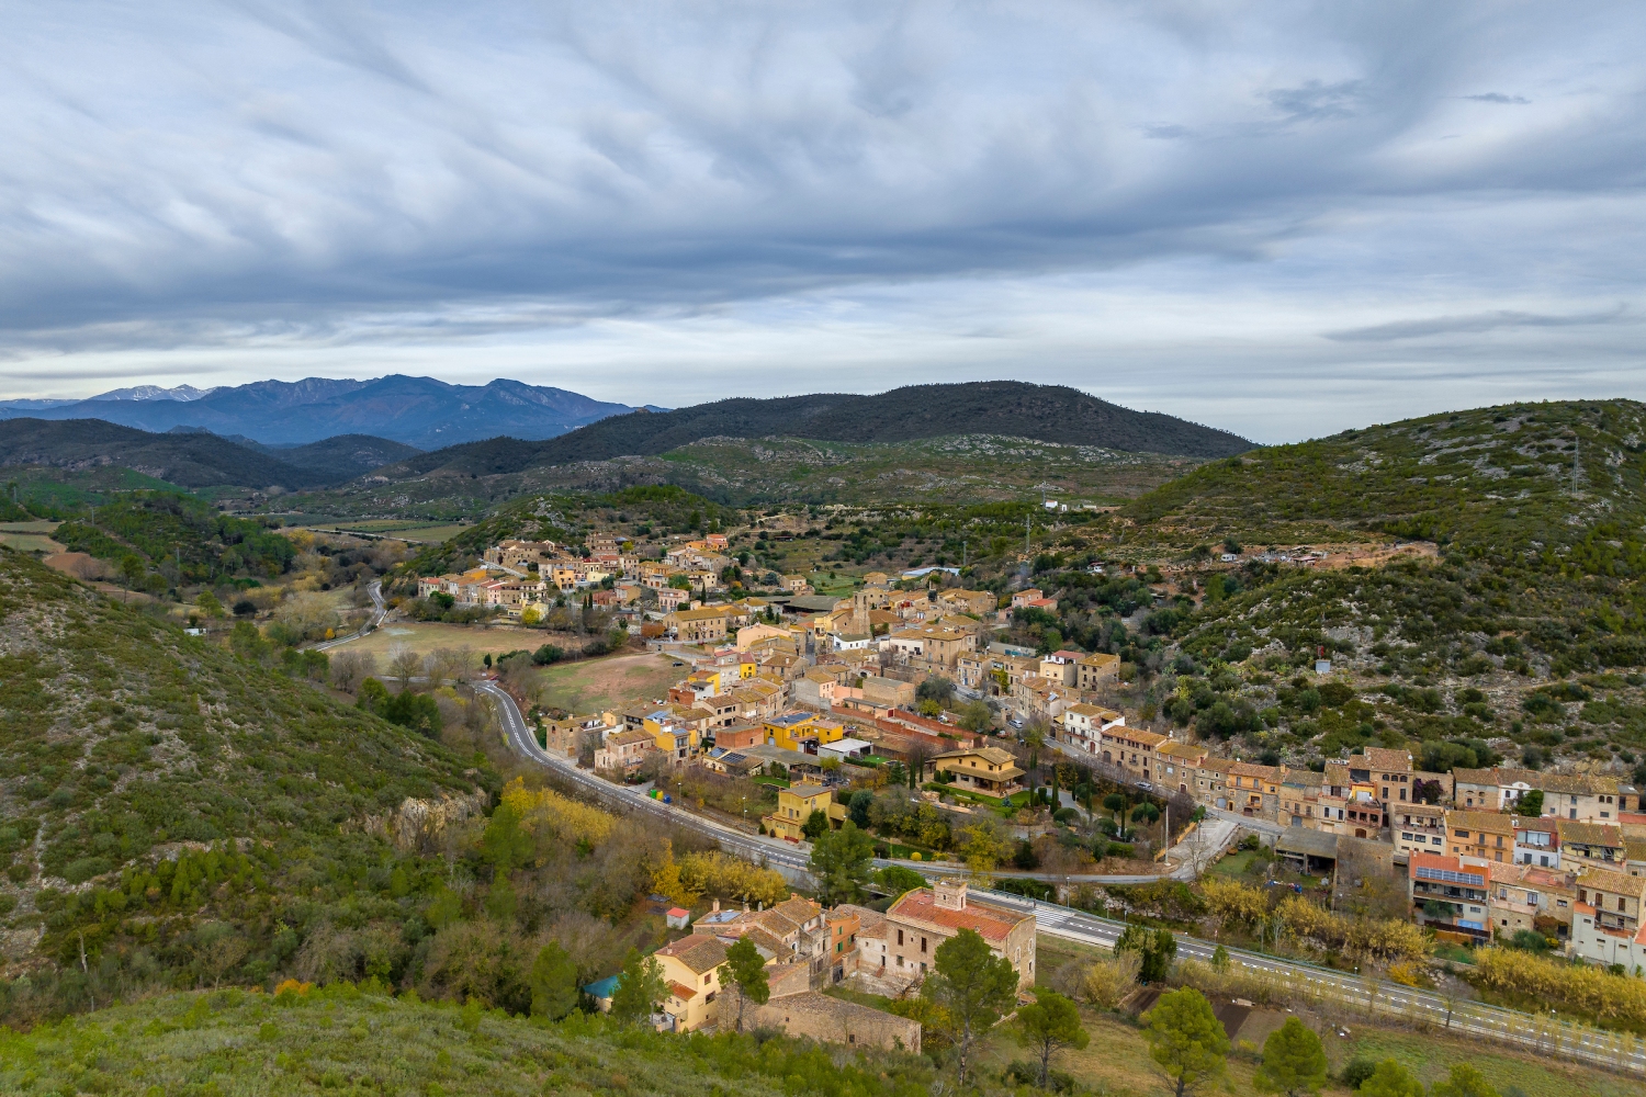
[(382, 472), (388, 477), (444, 470), (499, 475), (532, 465), (662, 454), (703, 437), (810, 437), (895, 442), (953, 434), (1001, 434), (1128, 452), (1226, 457), (1251, 442), (1154, 411), (1131, 411), (1060, 385), (973, 382), (912, 385), (876, 396), (828, 393), (777, 400), (721, 400), (677, 411), (635, 411), (560, 437), (523, 442), (494, 437), (451, 446)]

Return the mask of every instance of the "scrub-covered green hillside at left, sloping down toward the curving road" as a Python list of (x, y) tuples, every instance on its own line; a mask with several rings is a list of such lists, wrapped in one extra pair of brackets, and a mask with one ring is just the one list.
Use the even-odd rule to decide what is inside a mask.
[(224, 933), (224, 970), (272, 970), (384, 857), (370, 817), (408, 798), (484, 803), (486, 780), (0, 549), (0, 972), (35, 970), (41, 1002), (38, 962), (67, 970), (81, 941), (119, 980), (198, 972)]

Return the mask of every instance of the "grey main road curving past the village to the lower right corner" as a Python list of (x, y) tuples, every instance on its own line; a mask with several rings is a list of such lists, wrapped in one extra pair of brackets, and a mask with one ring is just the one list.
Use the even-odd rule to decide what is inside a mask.
[[(805, 847), (797, 849), (780, 839), (744, 834), (742, 831), (728, 827), (713, 819), (704, 819), (691, 814), (690, 811), (655, 801), (634, 789), (612, 785), (611, 781), (597, 778), (593, 773), (579, 770), (576, 763), (566, 758), (551, 755), (538, 745), (537, 737), (525, 722), (525, 717), (520, 715), (520, 707), (502, 686), (495, 681), (486, 679), (474, 683), (474, 687), (497, 701), (504, 735), (510, 750), (517, 755), (555, 770), (558, 775), (578, 783), (581, 788), (589, 789), (602, 799), (621, 803), (625, 808), (634, 808), (637, 811), (649, 812), (653, 817), (668, 819), (675, 826), (704, 834), (719, 842), (721, 849), (726, 852), (747, 857), (757, 863), (782, 865), (793, 872), (807, 870), (808, 855), (803, 852)], [(1243, 824), (1249, 822), (1239, 816), (1234, 816), (1231, 821)], [(876, 865), (889, 863), (904, 865), (907, 868), (914, 868), (915, 872), (930, 875), (953, 875), (956, 872), (955, 865), (938, 867), (922, 862), (876, 860)], [(1136, 882), (1142, 883), (1157, 878), (1159, 877), (1139, 877)], [(1119, 880), (1111, 877), (1109, 882), (1118, 883)], [(1032, 913), (1037, 933), (1044, 933), (1052, 937), (1063, 937), (1088, 946), (1113, 949), (1114, 942), (1126, 929), (1126, 923), (1123, 921), (1101, 918), (1098, 914), (1090, 914), (1086, 911), (1055, 903), (1040, 903), (1009, 891), (979, 888), (979, 895), (988, 896), (989, 903)], [(1185, 934), (1172, 936), (1177, 939), (1177, 954), (1183, 957), (1210, 960), (1218, 947), (1215, 942), (1203, 941), (1200, 937), (1190, 937)], [(1429, 990), (1419, 990), (1378, 979), (1365, 979), (1361, 975), (1317, 967), (1314, 964), (1300, 964), (1297, 960), (1286, 960), (1274, 956), (1264, 956), (1261, 952), (1248, 952), (1244, 949), (1226, 949), (1226, 952), (1230, 954), (1231, 962), (1269, 972), (1276, 979), (1289, 984), (1292, 992), (1304, 998), (1330, 1002), (1343, 1008), (1355, 1008), (1368, 1016), (1394, 1016), (1407, 1023), (1427, 1025), (1462, 1036), (1475, 1036), (1519, 1048), (1529, 1048), (1541, 1054), (1564, 1056), (1608, 1069), (1646, 1074), (1646, 1046), (1630, 1035), (1603, 1033), (1600, 1030), (1572, 1025), (1569, 1021), (1555, 1021), (1532, 1013), (1504, 1010), (1481, 1002), (1447, 998), (1445, 995)]]

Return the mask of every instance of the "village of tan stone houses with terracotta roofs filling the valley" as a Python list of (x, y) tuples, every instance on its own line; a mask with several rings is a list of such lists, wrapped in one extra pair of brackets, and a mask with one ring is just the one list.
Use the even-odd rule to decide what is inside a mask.
[[(1057, 600), (1039, 589), (996, 595), (958, 586), (958, 569), (923, 567), (863, 574), (844, 595), (818, 595), (803, 576), (751, 594), (729, 589), (736, 558), (721, 535), (662, 559), (630, 549), (616, 538), (589, 538), (586, 556), (504, 541), (484, 566), (420, 581), (423, 597), (444, 594), (527, 622), (555, 599), (584, 599), (675, 660), (680, 678), (663, 697), (532, 712), (546, 750), (606, 781), (688, 808), (695, 799), (708, 814), (714, 804), (691, 789), (708, 775), (721, 788), (737, 781), (741, 811), (719, 816), (797, 849), (854, 816), (867, 822), (859, 794), (907, 786), (955, 829), (979, 812), (1004, 819), (1022, 847), (1058, 822), (1101, 821), (1141, 850), (1129, 872), (1162, 880), (1200, 878), (1246, 835), (1290, 878), (1335, 886), (1348, 867), (1397, 883), (1404, 916), (1442, 946), (1531, 936), (1539, 951), (1646, 969), (1646, 806), (1633, 785), (1514, 768), (1429, 773), (1407, 750), (1384, 747), (1320, 770), (1246, 761), (1220, 743), (1129, 725), (1113, 704), (1116, 655), (1037, 653), (999, 640), (1019, 610), (1057, 615)], [(1330, 661), (1314, 669), (1332, 681)], [(1055, 788), (1060, 763), (1076, 776)], [(1160, 822), (1152, 835), (1109, 827), (1093, 798), (1116, 786), (1128, 808), (1175, 809), (1177, 827)], [(1157, 822), (1151, 814), (1139, 812)], [(798, 893), (767, 910), (716, 905), (695, 921), (670, 908), (670, 924), (686, 936), (657, 952), (670, 988), (660, 1023), (695, 1030), (714, 1020), (718, 972), (739, 939), (770, 965), (772, 1000), (752, 1016), (820, 1039), (918, 1046), (918, 1023), (820, 992), (846, 984), (895, 998), (961, 928), (976, 929), (1030, 985), (1034, 916), (968, 895), (965, 877), (1037, 895), (1047, 873), (1037, 883), (1022, 870), (1034, 857), (978, 872), (978, 860), (935, 845), (912, 837), (876, 845), (882, 859), (925, 859), (945, 873), (884, 910), (828, 908)], [(1086, 872), (1101, 878), (1098, 863)], [(1050, 888), (1058, 900), (1073, 886), (1067, 865), (1062, 873)], [(614, 980), (589, 993), (609, 1005)]]

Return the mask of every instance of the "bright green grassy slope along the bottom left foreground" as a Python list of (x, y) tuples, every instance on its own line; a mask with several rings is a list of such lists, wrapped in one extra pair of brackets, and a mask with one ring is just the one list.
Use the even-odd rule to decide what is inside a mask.
[(277, 998), (170, 995), (26, 1036), (0, 1030), (7, 1094), (658, 1094), (917, 1097), (912, 1056), (841, 1056), (787, 1039), (677, 1038), (574, 1013), (560, 1025), (337, 985)]

